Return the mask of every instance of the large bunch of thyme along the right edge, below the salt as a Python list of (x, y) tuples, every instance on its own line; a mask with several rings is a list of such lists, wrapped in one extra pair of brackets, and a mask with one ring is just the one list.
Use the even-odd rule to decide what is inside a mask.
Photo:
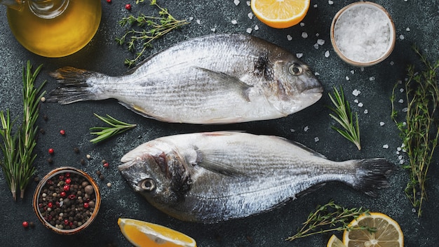
[(426, 69), (422, 72), (415, 72), (414, 65), (410, 65), (407, 69), (408, 78), (404, 85), (407, 107), (403, 109), (404, 121), (397, 120), (395, 90), (398, 84), (393, 87), (391, 118), (400, 131), (400, 137), (409, 159), (409, 164), (404, 166), (410, 171), (410, 181), (405, 188), (405, 194), (412, 205), (417, 208), (418, 217), (420, 217), (423, 203), (428, 199), (425, 187), (428, 180), (428, 166), (433, 159), (439, 138), (437, 112), (439, 87), (436, 76), (439, 60), (431, 65), (426, 56), (420, 53), (419, 48), (414, 46), (413, 49)]

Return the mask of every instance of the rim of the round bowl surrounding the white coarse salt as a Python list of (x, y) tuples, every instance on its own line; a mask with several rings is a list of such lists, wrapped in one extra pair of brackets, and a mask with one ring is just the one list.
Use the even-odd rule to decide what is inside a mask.
[[(373, 58), (371, 60), (355, 60), (353, 59), (353, 57), (351, 56), (351, 58), (348, 58), (348, 56), (346, 56), (346, 52), (344, 53), (342, 50), (343, 48), (340, 48), (340, 42), (337, 41), (337, 35), (335, 34), (335, 29), (336, 29), (336, 25), (337, 25), (337, 21), (341, 20), (342, 18), (348, 18), (347, 16), (349, 16), (346, 13), (349, 13), (349, 11), (354, 11), (357, 8), (370, 8), (371, 11), (377, 11), (376, 13), (381, 13), (386, 17), (386, 25), (389, 25), (389, 39), (386, 40), (386, 50), (381, 53), (381, 55), (379, 55), (378, 58)], [(344, 16), (346, 15), (346, 16)], [(381, 16), (383, 16), (381, 15)], [(363, 16), (363, 15), (358, 15), (358, 16)], [(370, 18), (372, 19), (372, 18)], [(370, 20), (369, 19), (369, 20)], [(341, 28), (341, 27), (340, 27)], [(362, 32), (363, 29), (358, 29), (358, 33)], [(346, 63), (348, 63), (349, 65), (353, 65), (356, 67), (367, 67), (367, 66), (371, 66), (371, 65), (376, 65), (377, 63), (385, 60), (387, 57), (389, 57), (389, 55), (392, 53), (393, 48), (395, 46), (395, 41), (396, 41), (396, 29), (395, 29), (395, 24), (393, 23), (393, 20), (391, 18), (391, 16), (389, 15), (389, 13), (386, 11), (385, 8), (383, 8), (382, 6), (380, 6), (379, 4), (374, 4), (372, 2), (369, 1), (358, 1), (355, 2), (353, 4), (349, 4), (347, 6), (345, 6), (344, 8), (342, 8), (340, 11), (337, 12), (337, 14), (335, 15), (335, 17), (332, 19), (332, 23), (331, 23), (331, 29), (330, 29), (330, 37), (331, 37), (331, 43), (332, 43), (332, 47), (335, 50), (335, 53), (337, 53), (337, 55), (339, 56), (339, 58), (342, 58), (342, 60)], [(338, 44), (337, 44), (338, 42)], [(351, 46), (353, 47), (353, 46)], [(344, 47), (346, 50), (346, 47)]]

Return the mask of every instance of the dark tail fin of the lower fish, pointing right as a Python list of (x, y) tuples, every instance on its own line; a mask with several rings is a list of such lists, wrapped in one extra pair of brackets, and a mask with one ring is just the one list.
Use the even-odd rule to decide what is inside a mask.
[(354, 161), (356, 171), (351, 183), (354, 189), (369, 196), (377, 196), (377, 190), (389, 187), (387, 176), (394, 170), (386, 159), (360, 159)]

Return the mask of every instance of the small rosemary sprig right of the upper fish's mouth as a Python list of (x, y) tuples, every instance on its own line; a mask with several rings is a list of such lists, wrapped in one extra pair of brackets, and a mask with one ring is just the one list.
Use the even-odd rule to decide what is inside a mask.
[(340, 92), (334, 87), (334, 97), (329, 94), (334, 107), (329, 107), (335, 114), (330, 114), (332, 119), (335, 119), (342, 127), (337, 128), (331, 126), (332, 129), (340, 133), (347, 140), (353, 142), (358, 150), (361, 150), (360, 144), (360, 126), (358, 126), (358, 114), (355, 113), (355, 122), (353, 122), (353, 114), (351, 112), (351, 106), (349, 102), (344, 99), (344, 92), (342, 86), (340, 86)]

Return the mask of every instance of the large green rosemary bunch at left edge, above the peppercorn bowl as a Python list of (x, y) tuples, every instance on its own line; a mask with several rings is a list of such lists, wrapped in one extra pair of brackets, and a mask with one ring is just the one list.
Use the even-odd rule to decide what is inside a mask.
[(33, 163), (36, 158), (36, 154), (34, 154), (38, 128), (36, 119), (39, 116), (39, 101), (46, 93), (46, 91), (40, 93), (46, 81), (43, 81), (38, 88), (35, 88), (35, 79), (42, 66), (39, 65), (32, 72), (32, 65), (27, 61), (27, 66), (23, 67), (23, 120), (20, 130), (14, 135), (14, 124), (11, 122), (9, 110), (6, 110), (6, 115), (4, 112), (0, 112), (2, 127), (0, 134), (4, 143), (1, 147), (4, 154), (4, 162), (1, 163), (1, 166), (14, 201), (17, 199), (17, 189), (20, 189), (20, 198), (23, 199), (29, 180), (35, 174)]

